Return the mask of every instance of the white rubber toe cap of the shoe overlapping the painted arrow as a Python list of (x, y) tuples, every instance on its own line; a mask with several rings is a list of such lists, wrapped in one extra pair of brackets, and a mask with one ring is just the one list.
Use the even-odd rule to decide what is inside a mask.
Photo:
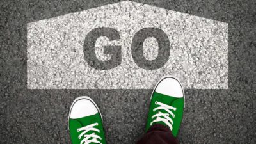
[(156, 92), (172, 97), (184, 97), (183, 88), (175, 77), (164, 77), (156, 86)]

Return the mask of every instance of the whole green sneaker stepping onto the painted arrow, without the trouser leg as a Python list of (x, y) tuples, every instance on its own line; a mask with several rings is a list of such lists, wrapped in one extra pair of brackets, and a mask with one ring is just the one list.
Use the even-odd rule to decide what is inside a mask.
[(172, 76), (163, 77), (151, 95), (146, 132), (154, 124), (163, 124), (170, 128), (176, 138), (183, 117), (184, 101), (180, 81)]

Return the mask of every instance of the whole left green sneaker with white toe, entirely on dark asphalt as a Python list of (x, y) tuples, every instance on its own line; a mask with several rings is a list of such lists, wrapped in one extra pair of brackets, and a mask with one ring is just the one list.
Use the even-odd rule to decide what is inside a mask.
[(78, 97), (69, 111), (68, 128), (73, 144), (106, 144), (100, 110), (90, 97)]

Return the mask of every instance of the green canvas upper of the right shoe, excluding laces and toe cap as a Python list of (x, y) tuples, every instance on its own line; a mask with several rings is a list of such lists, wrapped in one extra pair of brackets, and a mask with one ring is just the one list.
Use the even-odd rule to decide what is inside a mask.
[[(157, 105), (156, 102), (161, 102), (163, 104), (176, 108), (175, 111), (173, 109), (169, 109), (175, 115), (174, 118), (172, 117), (172, 115), (169, 115), (169, 117), (173, 120), (171, 131), (173, 136), (176, 137), (179, 132), (180, 123), (182, 121), (183, 109), (184, 109), (184, 97), (177, 98), (177, 97), (172, 97), (170, 95), (163, 95), (161, 93), (157, 93), (156, 91), (154, 91), (152, 94), (151, 102), (150, 102), (150, 109), (148, 113), (146, 131), (148, 131), (148, 129), (150, 128), (151, 126), (150, 123), (156, 119), (156, 117), (152, 118), (153, 115), (156, 115), (157, 113), (159, 113), (159, 111), (161, 113), (167, 113), (165, 109), (159, 109), (159, 110), (153, 111), (153, 109), (159, 107), (159, 105)], [(162, 116), (161, 118), (164, 118), (164, 117)], [(166, 125), (164, 122), (154, 122), (152, 125), (154, 124)]]

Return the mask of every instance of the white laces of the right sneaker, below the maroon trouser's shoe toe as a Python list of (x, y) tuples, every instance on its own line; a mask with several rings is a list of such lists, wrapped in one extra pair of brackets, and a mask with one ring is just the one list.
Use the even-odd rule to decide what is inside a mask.
[[(156, 118), (156, 119), (153, 120), (150, 123), (150, 125), (152, 125), (154, 122), (164, 122), (166, 125), (168, 125), (168, 127), (170, 127), (170, 129), (172, 131), (173, 120), (172, 120), (172, 118), (170, 118), (170, 115), (172, 115), (173, 118), (175, 117), (175, 115), (169, 109), (176, 111), (176, 108), (174, 108), (172, 106), (168, 106), (167, 104), (163, 104), (161, 102), (155, 102), (155, 104), (159, 105), (159, 106), (154, 108), (153, 111), (164, 109), (167, 113), (161, 113), (160, 111), (158, 111), (158, 113), (156, 113), (155, 115), (152, 116), (152, 118)], [(163, 117), (161, 117), (161, 116), (163, 116)]]

